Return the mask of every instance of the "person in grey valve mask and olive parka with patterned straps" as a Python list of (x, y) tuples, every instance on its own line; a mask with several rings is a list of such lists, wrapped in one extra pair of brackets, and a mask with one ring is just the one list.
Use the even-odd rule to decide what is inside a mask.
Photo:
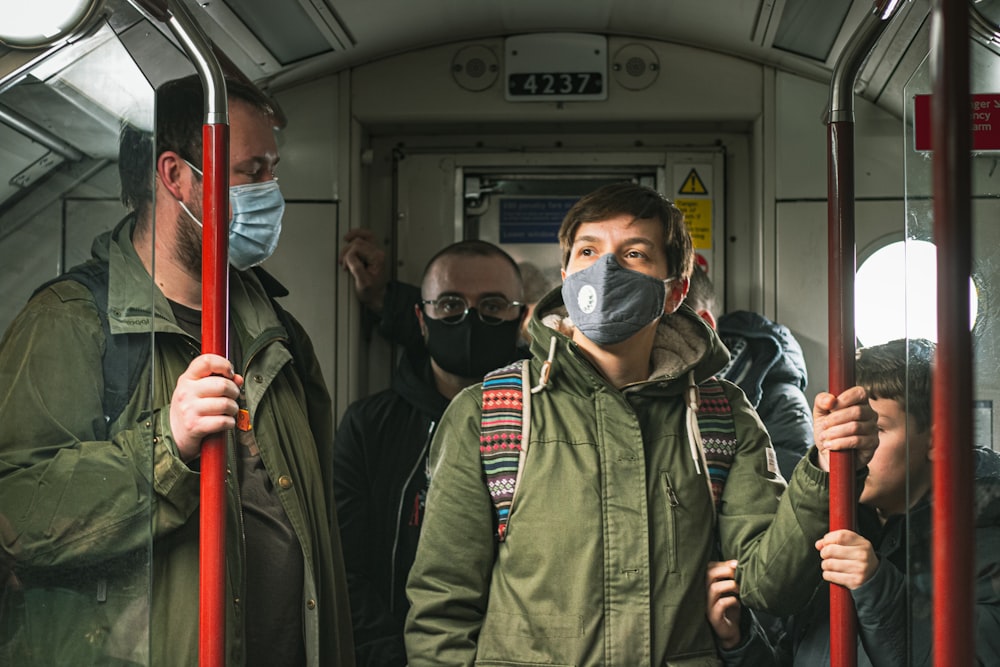
[[(694, 253), (677, 207), (643, 186), (608, 185), (570, 209), (559, 241), (564, 282), (532, 315), (519, 396), (504, 376), (498, 395), (512, 405), (491, 408), (486, 424), (486, 392), (462, 392), (431, 445), (407, 584), (409, 665), (717, 664), (740, 647), (713, 637), (709, 560), (716, 550), (738, 559), (749, 606), (804, 604), (804, 584), (819, 580), (812, 544), (826, 532), (829, 452), (857, 449), (863, 471), (878, 444), (874, 413), (860, 387), (820, 394), (818, 447), (786, 490), (735, 385), (713, 383), (724, 400), (701, 403), (725, 406), (732, 437), (698, 435), (699, 386), (729, 355), (683, 305)], [(522, 427), (504, 431), (518, 415)], [(494, 423), (524, 455), (491, 458), (509, 472), (487, 489), (480, 443)], [(719, 468), (709, 479), (706, 461), (722, 447), (716, 505)], [(494, 490), (509, 493), (503, 508)]]

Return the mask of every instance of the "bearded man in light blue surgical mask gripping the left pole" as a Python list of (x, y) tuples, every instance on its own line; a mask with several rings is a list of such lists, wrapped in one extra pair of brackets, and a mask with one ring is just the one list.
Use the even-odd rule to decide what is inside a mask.
[[(354, 665), (333, 409), (308, 336), (274, 298), (287, 292), (256, 268), (281, 229), (281, 114), (256, 88), (226, 85), (229, 358), (198, 354), (196, 76), (157, 89), (155, 141), (124, 128), (131, 213), (94, 241), (88, 272), (36, 292), (0, 348), (0, 470), (16, 471), (0, 475), (0, 525), (12, 527), (0, 560), (23, 577), (16, 595), (0, 591), (12, 605), (0, 645), (17, 664), (197, 664), (200, 455), (224, 433), (225, 664)], [(108, 358), (125, 374), (144, 349), (122, 391)], [(49, 509), (14, 511), (24, 499)], [(31, 643), (36, 627), (48, 630)]]

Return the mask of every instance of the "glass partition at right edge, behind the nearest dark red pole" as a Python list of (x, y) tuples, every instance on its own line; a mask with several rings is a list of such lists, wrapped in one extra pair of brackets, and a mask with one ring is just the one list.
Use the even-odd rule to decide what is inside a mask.
[[(997, 329), (997, 287), (1000, 286), (1000, 174), (997, 173), (994, 134), (1000, 137), (1000, 78), (995, 72), (1000, 66), (1000, 56), (983, 44), (972, 41), (970, 46), (970, 83), (972, 100), (970, 113), (973, 118), (974, 144), (989, 150), (975, 149), (972, 153), (972, 276), (970, 280), (971, 321), (966, 326), (972, 332), (973, 354), (973, 405), (970, 406), (973, 441), (962, 446), (975, 448), (975, 554), (976, 554), (976, 604), (978, 614), (997, 615), (998, 598), (996, 577), (1000, 554), (996, 548), (996, 533), (1000, 528), (995, 520), (997, 498), (1000, 494), (998, 456), (993, 433), (996, 429), (994, 406), (1000, 403), (1000, 378), (996, 369), (1000, 364), (1000, 331)], [(930, 389), (927, 357), (933, 350), (935, 327), (918, 331), (912, 322), (928, 312), (934, 312), (936, 286), (928, 283), (926, 274), (935, 270), (931, 260), (917, 260), (922, 247), (934, 241), (933, 229), (933, 173), (932, 155), (928, 145), (930, 136), (929, 108), (932, 93), (930, 58), (925, 59), (908, 82), (906, 101), (905, 141), (906, 159), (906, 289), (907, 311), (906, 383), (903, 387), (902, 413), (905, 431), (906, 457), (897, 463), (897, 470), (905, 473), (899, 493), (904, 502), (905, 515), (888, 518), (883, 516), (880, 538), (883, 549), (888, 540), (901, 540), (905, 550), (891, 562), (905, 572), (907, 608), (909, 611), (909, 664), (926, 664), (931, 651), (933, 600), (931, 596), (931, 508), (934, 491), (931, 487), (931, 460), (934, 458), (933, 431), (930, 429)], [(924, 105), (924, 106), (922, 106)], [(985, 142), (985, 143), (983, 143)], [(928, 284), (930, 287), (928, 287)], [(914, 319), (916, 318), (916, 319)], [(924, 343), (925, 339), (931, 339)], [(881, 449), (880, 441), (880, 449)], [(940, 450), (937, 450), (940, 451)], [(862, 498), (864, 500), (864, 498)], [(990, 518), (992, 517), (992, 518)], [(887, 519), (887, 520), (886, 520)], [(954, 545), (956, 553), (968, 552), (973, 545)], [(1000, 583), (1000, 581), (998, 581)], [(986, 626), (982, 626), (986, 627)], [(987, 641), (988, 639), (988, 641)], [(978, 638), (982, 651), (993, 638)], [(980, 653), (983, 664), (991, 664), (989, 653)]]

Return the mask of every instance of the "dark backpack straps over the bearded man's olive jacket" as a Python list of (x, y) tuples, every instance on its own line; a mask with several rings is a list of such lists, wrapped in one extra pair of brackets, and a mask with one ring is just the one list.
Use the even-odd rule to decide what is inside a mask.
[[(264, 290), (271, 299), (278, 319), (288, 331), (289, 345), (292, 351), (292, 361), (300, 359), (299, 341), (295, 335), (296, 329), (291, 324), (291, 316), (274, 298), (282, 295), (284, 288), (271, 274), (260, 267), (253, 267), (254, 273), (264, 285)], [(101, 319), (104, 330), (104, 357), (102, 371), (104, 373), (104, 418), (106, 424), (111, 424), (121, 415), (128, 405), (129, 399), (139, 384), (139, 377), (149, 363), (152, 350), (152, 332), (143, 331), (127, 334), (112, 334), (108, 322), (108, 263), (91, 259), (78, 264), (60, 276), (39, 286), (32, 296), (45, 288), (65, 280), (73, 280), (90, 290), (94, 296), (94, 304)]]

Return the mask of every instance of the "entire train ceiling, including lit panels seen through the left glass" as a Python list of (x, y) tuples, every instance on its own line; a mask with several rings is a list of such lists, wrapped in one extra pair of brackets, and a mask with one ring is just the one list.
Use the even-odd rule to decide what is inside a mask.
[[(459, 39), (551, 31), (681, 43), (828, 81), (873, 10), (872, 0), (183, 1), (236, 67), (272, 89)], [(108, 21), (54, 54), (0, 47), (0, 212), (56, 164), (113, 159), (123, 115), (148, 122), (134, 68), (100, 91), (88, 90), (95, 73), (131, 56), (156, 85), (188, 67), (169, 47), (169, 30), (137, 9), (144, 3), (165, 0), (106, 0)], [(897, 116), (903, 86), (927, 54), (929, 7), (904, 0), (859, 76), (858, 93)]]

